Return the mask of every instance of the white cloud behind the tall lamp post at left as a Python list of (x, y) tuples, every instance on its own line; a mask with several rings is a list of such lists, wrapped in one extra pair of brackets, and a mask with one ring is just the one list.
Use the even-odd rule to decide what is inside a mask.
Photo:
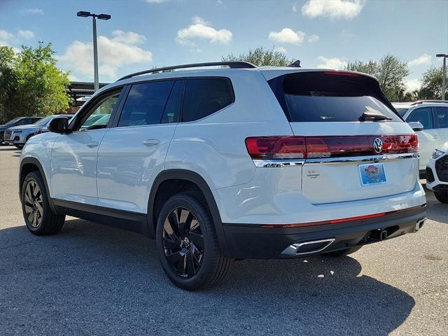
[[(150, 63), (151, 51), (140, 48), (137, 44), (146, 41), (145, 36), (132, 31), (113, 31), (113, 37), (98, 37), (99, 74), (115, 78), (120, 66), (127, 64)], [(72, 71), (73, 76), (92, 78), (93, 45), (90, 42), (73, 41), (64, 54), (57, 60), (64, 69)]]

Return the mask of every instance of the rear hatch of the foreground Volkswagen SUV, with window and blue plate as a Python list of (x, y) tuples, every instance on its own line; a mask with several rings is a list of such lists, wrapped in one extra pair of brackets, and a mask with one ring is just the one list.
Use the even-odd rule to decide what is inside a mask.
[(277, 76), (269, 85), (295, 135), (283, 151), (302, 152), (302, 193), (309, 202), (366, 200), (414, 189), (418, 139), (377, 80), (345, 71), (304, 71)]

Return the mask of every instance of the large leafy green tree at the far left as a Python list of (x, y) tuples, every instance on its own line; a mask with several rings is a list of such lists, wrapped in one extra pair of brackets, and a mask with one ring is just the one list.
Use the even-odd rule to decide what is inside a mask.
[(0, 92), (5, 92), (0, 97), (1, 121), (16, 116), (48, 116), (69, 108), (69, 73), (57, 69), (54, 54), (51, 43), (43, 42), (36, 48), (22, 45), (17, 54), (8, 47), (1, 48)]

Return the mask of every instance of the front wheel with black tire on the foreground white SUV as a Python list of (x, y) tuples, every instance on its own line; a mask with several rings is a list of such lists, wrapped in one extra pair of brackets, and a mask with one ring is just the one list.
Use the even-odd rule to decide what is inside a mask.
[(52, 235), (62, 229), (65, 215), (58, 215), (52, 211), (41, 174), (31, 172), (25, 177), (20, 200), (25, 223), (32, 234)]

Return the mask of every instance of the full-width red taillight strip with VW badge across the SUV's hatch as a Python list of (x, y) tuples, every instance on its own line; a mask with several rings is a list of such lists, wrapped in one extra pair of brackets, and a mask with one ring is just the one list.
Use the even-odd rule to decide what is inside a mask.
[[(381, 146), (373, 146), (380, 139)], [(246, 148), (256, 159), (344, 158), (416, 153), (416, 134), (330, 137), (249, 137)]]

